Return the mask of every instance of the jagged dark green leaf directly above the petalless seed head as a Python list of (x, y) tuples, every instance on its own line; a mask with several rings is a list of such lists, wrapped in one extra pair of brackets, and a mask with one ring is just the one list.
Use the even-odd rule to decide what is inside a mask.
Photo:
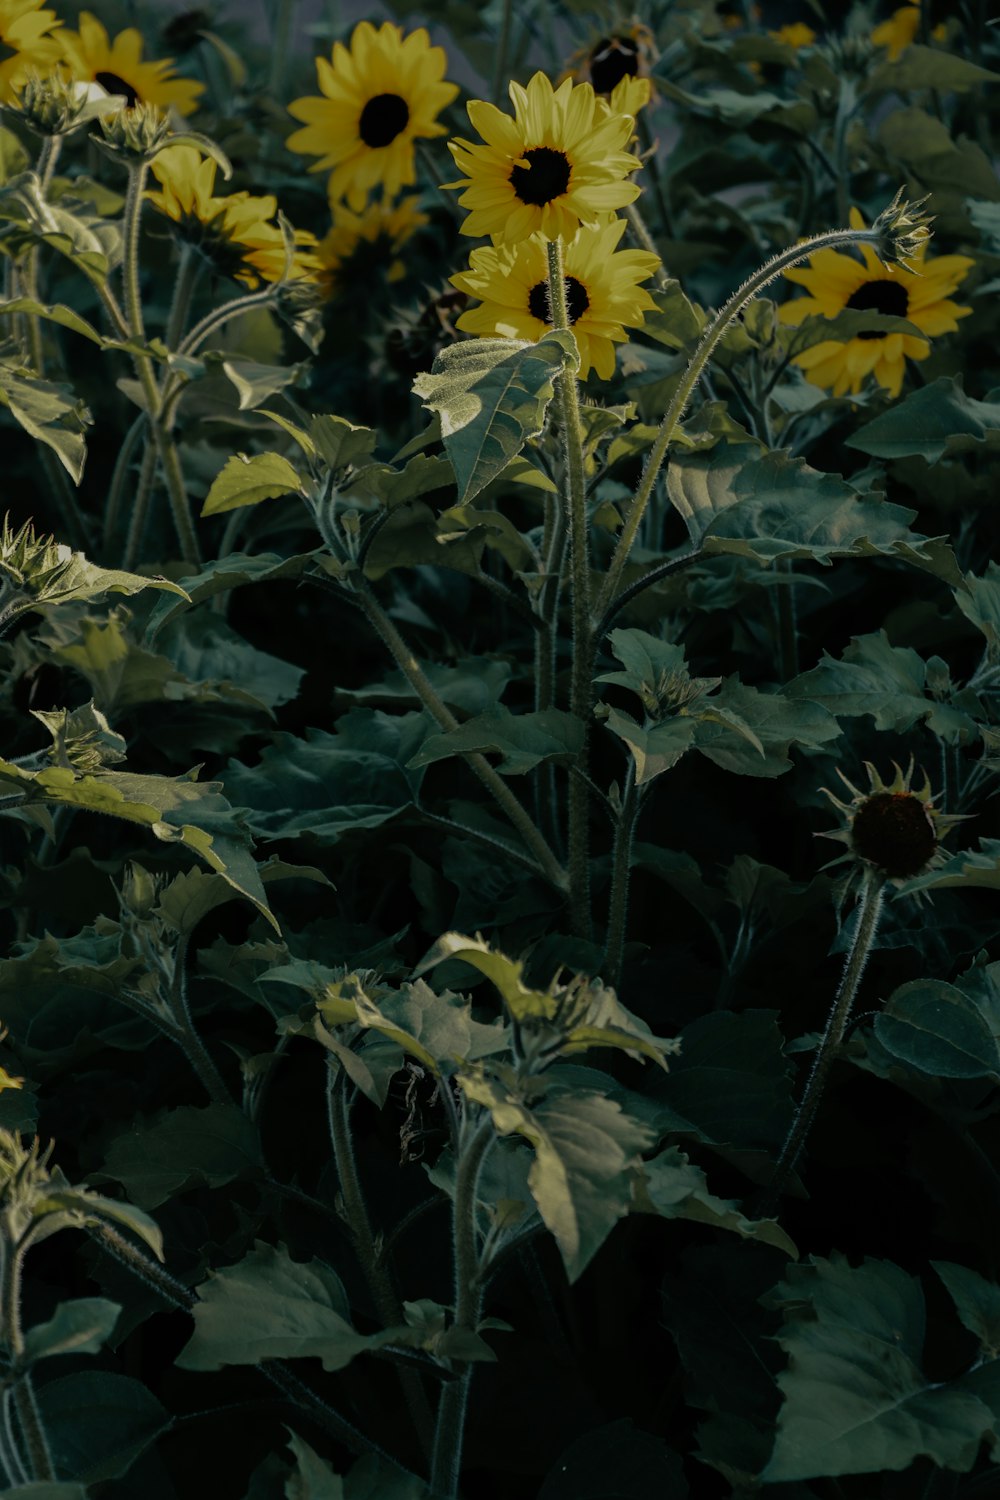
[(841, 660), (825, 654), (819, 666), (786, 687), (789, 698), (822, 704), (841, 718), (871, 714), (876, 729), (906, 734), (927, 722), (948, 744), (978, 738), (976, 722), (931, 696), (928, 663), (912, 646), (894, 646), (883, 630), (856, 636)]

